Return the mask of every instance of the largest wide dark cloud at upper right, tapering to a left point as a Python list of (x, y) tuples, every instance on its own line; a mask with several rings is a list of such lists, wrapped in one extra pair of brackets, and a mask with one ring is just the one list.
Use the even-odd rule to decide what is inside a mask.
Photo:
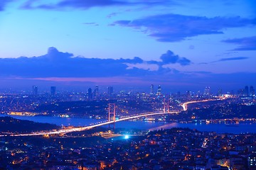
[(169, 13), (133, 21), (115, 21), (111, 26), (130, 27), (141, 30), (160, 42), (175, 42), (197, 35), (223, 34), (224, 28), (239, 28), (255, 24), (256, 19), (240, 18), (239, 16), (207, 18)]

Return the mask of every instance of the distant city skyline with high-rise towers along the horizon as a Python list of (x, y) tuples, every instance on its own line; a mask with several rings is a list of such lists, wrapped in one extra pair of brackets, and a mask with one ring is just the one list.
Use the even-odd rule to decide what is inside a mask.
[(240, 87), (239, 89), (232, 89), (225, 91), (223, 89), (211, 89), (210, 86), (206, 86), (204, 89), (197, 89), (196, 91), (191, 91), (190, 89), (186, 89), (184, 91), (175, 91), (174, 89), (169, 89), (168, 87), (166, 88), (164, 86), (154, 86), (154, 84), (151, 84), (148, 86), (147, 89), (142, 89), (139, 87), (119, 87), (119, 86), (84, 86), (81, 89), (75, 89), (75, 88), (70, 88), (66, 89), (63, 88), (63, 86), (32, 86), (32, 89), (0, 89), (1, 94), (26, 94), (30, 95), (33, 94), (33, 96), (38, 96), (38, 95), (48, 95), (50, 96), (55, 96), (55, 95), (60, 95), (61, 94), (82, 94), (87, 96), (90, 96), (90, 100), (98, 98), (101, 95), (107, 95), (107, 96), (115, 96), (119, 94), (128, 94), (128, 95), (150, 95), (150, 96), (190, 96), (190, 97), (206, 97), (206, 96), (245, 96), (245, 97), (254, 97), (255, 96), (255, 87), (254, 86), (243, 86)]

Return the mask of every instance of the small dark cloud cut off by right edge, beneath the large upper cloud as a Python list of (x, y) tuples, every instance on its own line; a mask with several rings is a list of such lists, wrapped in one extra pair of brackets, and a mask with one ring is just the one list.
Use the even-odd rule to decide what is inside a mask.
[(233, 49), (233, 51), (256, 50), (256, 36), (228, 39), (223, 40), (223, 42), (239, 45), (237, 48)]

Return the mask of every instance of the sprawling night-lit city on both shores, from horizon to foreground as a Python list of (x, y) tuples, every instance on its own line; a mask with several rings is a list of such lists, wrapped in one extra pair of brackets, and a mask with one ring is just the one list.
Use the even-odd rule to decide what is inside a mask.
[[(154, 91), (153, 84), (147, 92), (114, 91), (113, 86), (105, 90), (95, 86), (85, 92), (56, 89), (51, 86), (50, 91), (42, 92), (38, 91), (38, 86), (33, 86), (32, 91), (25, 94), (1, 93), (1, 115), (44, 116), (49, 120), (55, 117), (90, 118), (97, 120), (95, 125), (135, 115), (138, 118), (128, 124), (134, 121), (167, 125), (203, 123), (225, 125), (234, 130), (239, 128), (238, 125), (256, 123), (253, 86), (239, 89), (238, 94), (221, 89), (213, 92), (208, 86), (203, 93), (188, 90), (164, 94), (161, 85)], [(157, 115), (139, 117), (145, 113)], [(75, 130), (73, 125), (35, 124), (10, 117), (0, 118), (0, 169), (210, 170), (256, 167), (256, 137), (253, 133), (201, 132), (188, 128), (149, 131), (140, 125), (135, 129), (114, 129), (111, 124)], [(29, 134), (41, 135), (30, 137)]]

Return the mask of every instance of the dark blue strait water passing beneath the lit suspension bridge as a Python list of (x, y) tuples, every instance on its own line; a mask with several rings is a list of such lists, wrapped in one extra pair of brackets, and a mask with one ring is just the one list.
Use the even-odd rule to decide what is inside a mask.
[[(0, 115), (6, 116), (6, 115)], [(38, 123), (52, 123), (56, 125), (73, 125), (85, 126), (91, 123), (105, 121), (103, 119), (90, 119), (90, 118), (60, 118), (48, 116), (21, 116), (21, 115), (8, 115), (12, 118), (21, 120), (31, 120)], [(106, 126), (107, 127), (107, 126)], [(206, 124), (206, 123), (164, 123), (164, 122), (140, 122), (140, 121), (122, 121), (117, 122), (116, 128), (127, 129), (141, 129), (141, 130), (160, 130), (169, 128), (190, 128), (199, 131), (218, 132), (218, 133), (256, 133), (256, 123), (240, 123), (237, 126), (227, 126), (224, 123)]]

